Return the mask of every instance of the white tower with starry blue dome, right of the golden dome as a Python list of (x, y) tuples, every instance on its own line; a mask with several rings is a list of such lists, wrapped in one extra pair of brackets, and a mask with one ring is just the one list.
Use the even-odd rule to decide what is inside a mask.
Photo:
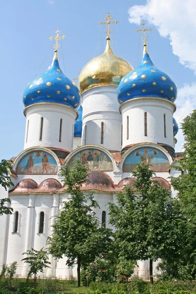
[(173, 153), (177, 88), (168, 74), (154, 66), (146, 44), (139, 66), (123, 77), (117, 96), (123, 116), (122, 147), (149, 142)]

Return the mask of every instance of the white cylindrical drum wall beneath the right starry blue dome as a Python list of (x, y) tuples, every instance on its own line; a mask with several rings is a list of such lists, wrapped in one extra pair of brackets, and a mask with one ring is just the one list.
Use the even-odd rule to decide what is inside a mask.
[[(123, 147), (136, 143), (163, 143), (174, 148), (172, 116), (174, 104), (164, 99), (132, 99), (121, 105), (123, 116)], [(147, 112), (147, 136), (144, 133), (144, 113)], [(166, 114), (166, 137), (164, 137)], [(127, 139), (127, 116), (129, 136)]]

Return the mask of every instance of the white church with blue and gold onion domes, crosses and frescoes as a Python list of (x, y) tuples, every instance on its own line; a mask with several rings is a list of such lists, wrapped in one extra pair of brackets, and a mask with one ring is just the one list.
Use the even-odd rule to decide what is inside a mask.
[[(60, 169), (73, 166), (76, 159), (89, 169), (89, 184), (82, 190), (96, 192), (96, 214), (106, 227), (111, 228), (107, 203), (135, 181), (132, 171), (139, 162), (150, 164), (156, 174), (152, 180), (175, 196), (168, 178), (179, 175), (174, 169), (180, 160), (173, 117), (176, 85), (148, 54), (145, 32), (151, 29), (146, 24), (136, 30), (144, 33), (144, 51), (134, 69), (110, 45), (109, 26), (117, 21), (109, 14), (105, 21), (106, 48), (83, 67), (78, 87), (60, 68), (58, 41), (65, 36), (57, 30), (50, 38), (55, 40), (51, 65), (24, 90), (24, 150), (12, 158), (14, 186), (8, 192), (0, 187), (0, 197), (9, 197), (13, 208), (12, 215), (0, 217), (0, 266), (17, 261), (19, 277), (27, 274), (22, 253), (46, 248), (53, 217), (68, 198)], [(66, 257), (49, 256), (49, 261), (45, 276), (76, 276), (76, 268), (65, 265)], [(148, 262), (138, 261), (138, 266), (136, 274), (147, 279)]]

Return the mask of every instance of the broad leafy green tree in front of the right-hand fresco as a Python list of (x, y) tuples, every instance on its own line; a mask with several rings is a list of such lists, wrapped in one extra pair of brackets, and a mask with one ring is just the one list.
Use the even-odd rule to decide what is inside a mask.
[(134, 184), (125, 186), (117, 195), (118, 205), (109, 204), (110, 223), (115, 226), (115, 244), (119, 256), (127, 260), (152, 261), (171, 258), (179, 246), (180, 212), (170, 191), (157, 181), (147, 164), (138, 164), (132, 172)]

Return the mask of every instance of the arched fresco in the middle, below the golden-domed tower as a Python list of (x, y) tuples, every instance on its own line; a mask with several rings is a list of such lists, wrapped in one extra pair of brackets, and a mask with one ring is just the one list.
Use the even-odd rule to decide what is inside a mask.
[(109, 156), (97, 149), (85, 149), (75, 154), (68, 165), (73, 166), (75, 160), (79, 160), (86, 165), (89, 170), (113, 171), (113, 163)]

